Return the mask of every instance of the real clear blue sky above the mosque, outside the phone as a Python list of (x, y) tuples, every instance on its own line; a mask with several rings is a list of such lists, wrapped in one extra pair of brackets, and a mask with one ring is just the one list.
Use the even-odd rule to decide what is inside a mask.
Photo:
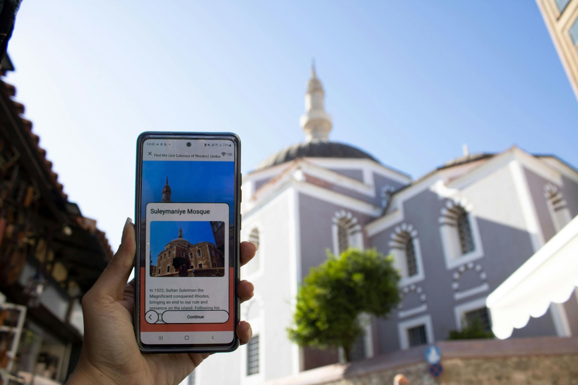
[(40, 145), (114, 248), (139, 132), (237, 132), (247, 172), (303, 140), (313, 56), (330, 138), (413, 177), (462, 143), (578, 164), (578, 103), (531, 0), (25, 0), (9, 53)]

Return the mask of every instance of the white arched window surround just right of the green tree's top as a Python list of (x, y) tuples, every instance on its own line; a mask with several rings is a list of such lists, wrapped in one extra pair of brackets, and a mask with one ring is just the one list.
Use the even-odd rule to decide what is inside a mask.
[[(421, 257), (420, 239), (418, 238), (417, 229), (412, 224), (401, 223), (394, 228), (390, 235), (389, 253), (394, 257), (395, 268), (399, 271), (401, 279), (399, 286), (406, 286), (412, 283), (424, 280), (424, 264)], [(417, 273), (409, 276), (407, 272), (407, 242), (413, 243), (413, 250), (416, 257)]]

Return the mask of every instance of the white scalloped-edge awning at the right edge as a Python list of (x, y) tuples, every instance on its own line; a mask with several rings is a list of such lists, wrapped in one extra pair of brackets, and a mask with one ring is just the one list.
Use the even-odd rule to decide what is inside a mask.
[(568, 301), (578, 286), (578, 217), (488, 295), (492, 331), (501, 339), (543, 316), (550, 303)]

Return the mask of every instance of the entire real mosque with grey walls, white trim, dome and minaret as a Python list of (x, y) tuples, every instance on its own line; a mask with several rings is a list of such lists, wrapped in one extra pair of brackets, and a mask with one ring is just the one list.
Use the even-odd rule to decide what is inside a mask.
[[(578, 214), (578, 171), (554, 155), (516, 146), (465, 151), (413, 180), (398, 171), (402, 160), (388, 159), (390, 168), (332, 142), (324, 97), (313, 68), (299, 121), (305, 141), (244, 175), (241, 239), (260, 247), (241, 269), (259, 288), (241, 319), (254, 338), (209, 357), (195, 369), (197, 383), (261, 383), (339, 361), (339, 351), (301, 349), (287, 338), (298, 285), (326, 249), (375, 247), (394, 257), (402, 277), (398, 308), (387, 320), (365, 320), (359, 359), (445, 340), (474, 318), (489, 329), (488, 294)], [(513, 336), (568, 336), (577, 325), (575, 293)]]

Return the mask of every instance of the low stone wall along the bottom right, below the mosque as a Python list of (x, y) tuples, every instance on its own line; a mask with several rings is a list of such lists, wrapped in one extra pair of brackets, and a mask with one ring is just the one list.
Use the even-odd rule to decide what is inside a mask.
[(269, 384), (388, 385), (403, 373), (410, 385), (578, 385), (576, 337), (440, 341), (436, 345), (442, 351), (443, 366), (438, 378), (429, 374), (424, 346), (327, 365)]

